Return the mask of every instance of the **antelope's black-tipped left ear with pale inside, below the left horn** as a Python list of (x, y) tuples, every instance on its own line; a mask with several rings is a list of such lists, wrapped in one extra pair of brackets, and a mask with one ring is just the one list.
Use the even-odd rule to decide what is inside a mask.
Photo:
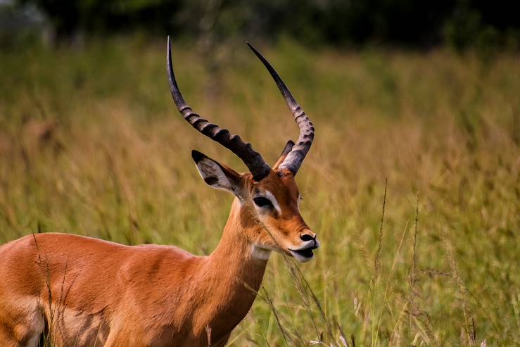
[(241, 175), (238, 172), (217, 163), (199, 151), (191, 151), (191, 158), (194, 158), (198, 173), (201, 174), (206, 184), (215, 189), (224, 189), (236, 196), (241, 196)]

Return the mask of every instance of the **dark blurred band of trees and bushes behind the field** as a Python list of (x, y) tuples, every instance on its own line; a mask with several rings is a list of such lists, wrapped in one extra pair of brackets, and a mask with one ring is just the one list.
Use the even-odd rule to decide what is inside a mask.
[(11, 17), (31, 8), (61, 42), (134, 30), (210, 34), (217, 42), (288, 36), (308, 45), (517, 49), (520, 42), (520, 20), (507, 0), (18, 0)]

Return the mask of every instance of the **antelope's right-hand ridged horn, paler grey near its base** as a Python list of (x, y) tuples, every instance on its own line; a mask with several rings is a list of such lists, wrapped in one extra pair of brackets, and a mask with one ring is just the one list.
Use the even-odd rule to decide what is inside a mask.
[(251, 46), (249, 42), (247, 42), (249, 48), (260, 58), (260, 61), (264, 64), (265, 68), (269, 71), (271, 74), (274, 82), (276, 82), (278, 88), (280, 89), (281, 95), (284, 96), (284, 99), (287, 103), (288, 108), (293, 113), (294, 119), (296, 120), (296, 123), (298, 124), (298, 127), (300, 128), (300, 136), (298, 137), (298, 141), (296, 141), (296, 144), (293, 146), (293, 149), (290, 153), (288, 153), (287, 157), (285, 158), (284, 162), (280, 164), (279, 168), (286, 168), (288, 170), (291, 170), (293, 172), (293, 175), (296, 175), (296, 172), (298, 172), (298, 169), (300, 168), (300, 165), (303, 162), (303, 159), (307, 155), (307, 152), (310, 149), (310, 146), (312, 145), (312, 140), (314, 140), (314, 126), (312, 125), (312, 122), (310, 119), (305, 115), (305, 112), (303, 112), (300, 105), (296, 102), (294, 99), (293, 94), (289, 91), (287, 86), (285, 85), (284, 81), (281, 80), (280, 76), (274, 70), (274, 68), (269, 64), (266, 58), (258, 52), (255, 47)]

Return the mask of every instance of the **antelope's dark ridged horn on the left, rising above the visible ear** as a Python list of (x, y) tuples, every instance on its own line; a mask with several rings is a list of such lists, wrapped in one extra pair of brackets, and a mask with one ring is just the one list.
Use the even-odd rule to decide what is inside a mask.
[(253, 178), (256, 181), (260, 181), (260, 179), (269, 175), (271, 168), (269, 165), (265, 163), (260, 153), (255, 151), (251, 144), (242, 141), (239, 135), (230, 134), (228, 130), (220, 128), (218, 125), (208, 122), (201, 118), (197, 113), (194, 113), (191, 110), (184, 99), (182, 98), (182, 94), (179, 91), (179, 87), (177, 87), (177, 81), (175, 80), (175, 75), (173, 73), (172, 66), (172, 49), (170, 46), (170, 36), (168, 36), (167, 41), (167, 72), (168, 72), (168, 82), (170, 83), (170, 92), (172, 92), (172, 98), (179, 109), (179, 112), (182, 114), (185, 120), (191, 124), (196, 130), (205, 134), (205, 136), (213, 139), (213, 141), (217, 141), (222, 146), (226, 147), (230, 151), (236, 154), (244, 164), (248, 167), (249, 171), (253, 175)]

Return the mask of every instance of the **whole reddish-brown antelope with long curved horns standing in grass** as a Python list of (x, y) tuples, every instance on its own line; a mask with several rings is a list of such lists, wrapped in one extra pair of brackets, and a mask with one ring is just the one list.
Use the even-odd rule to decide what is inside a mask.
[(203, 153), (204, 182), (234, 194), (222, 239), (208, 256), (174, 246), (126, 246), (85, 236), (29, 234), (0, 247), (0, 346), (224, 346), (246, 316), (272, 251), (313, 258), (316, 234), (298, 210), (295, 175), (315, 129), (269, 62), (253, 47), (293, 113), (300, 134), (274, 166), (238, 135), (184, 101), (167, 37), (170, 92), (184, 119), (232, 151), (240, 174)]

